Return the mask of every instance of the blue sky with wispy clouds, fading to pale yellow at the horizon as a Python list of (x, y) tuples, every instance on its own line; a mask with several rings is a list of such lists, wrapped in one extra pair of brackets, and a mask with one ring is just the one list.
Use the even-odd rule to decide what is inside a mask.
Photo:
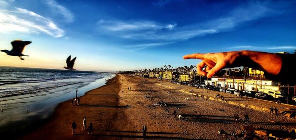
[(296, 50), (294, 0), (0, 0), (0, 66), (127, 71), (196, 65), (193, 53)]

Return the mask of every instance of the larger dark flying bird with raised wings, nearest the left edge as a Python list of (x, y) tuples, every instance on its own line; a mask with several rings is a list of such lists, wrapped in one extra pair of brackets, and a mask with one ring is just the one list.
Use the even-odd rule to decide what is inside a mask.
[(8, 56), (19, 56), (21, 60), (24, 60), (22, 56), (27, 56), (22, 54), (25, 46), (32, 43), (31, 41), (22, 41), (22, 40), (14, 40), (11, 42), (12, 50), (1, 50), (1, 52), (6, 53)]

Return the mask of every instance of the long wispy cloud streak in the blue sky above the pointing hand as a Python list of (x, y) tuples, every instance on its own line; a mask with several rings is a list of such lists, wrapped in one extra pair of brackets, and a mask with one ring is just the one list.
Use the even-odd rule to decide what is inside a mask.
[[(161, 0), (161, 3), (169, 0)], [(229, 31), (250, 21), (270, 15), (271, 10), (264, 3), (249, 3), (237, 7), (224, 16), (210, 21), (177, 27), (174, 23), (157, 23), (154, 21), (116, 21), (100, 20), (98, 28), (101, 33), (134, 40), (180, 41), (196, 36), (204, 36)]]

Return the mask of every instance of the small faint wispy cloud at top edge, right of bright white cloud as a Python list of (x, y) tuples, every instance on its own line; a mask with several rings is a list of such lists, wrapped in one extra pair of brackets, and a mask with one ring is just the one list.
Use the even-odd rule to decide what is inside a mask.
[(43, 2), (52, 9), (52, 12), (61, 14), (67, 22), (73, 22), (74, 15), (69, 9), (60, 5), (55, 0), (43, 0)]

